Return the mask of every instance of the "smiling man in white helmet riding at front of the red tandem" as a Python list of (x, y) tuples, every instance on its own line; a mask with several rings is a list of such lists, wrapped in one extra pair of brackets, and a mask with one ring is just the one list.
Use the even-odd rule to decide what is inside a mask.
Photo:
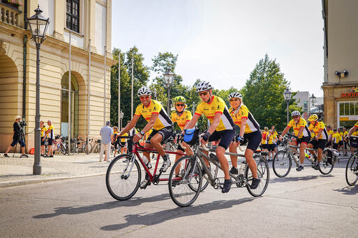
[[(135, 134), (133, 136), (133, 142), (136, 143), (143, 138), (144, 134), (147, 133), (150, 129), (153, 129), (153, 132), (148, 137), (148, 140), (144, 144), (144, 148), (156, 148), (161, 157), (163, 158), (163, 165), (159, 170), (161, 173), (165, 172), (167, 168), (170, 167), (170, 159), (165, 154), (163, 145), (161, 144), (163, 141), (170, 138), (174, 133), (173, 122), (170, 120), (166, 111), (163, 109), (163, 106), (160, 102), (151, 99), (151, 90), (147, 87), (142, 87), (137, 92), (138, 97), (140, 97), (140, 102), (135, 109), (134, 116), (132, 120), (122, 129), (119, 136), (123, 135), (126, 132), (129, 132), (135, 124), (137, 123), (140, 116), (143, 116), (145, 120), (147, 120), (147, 125), (140, 131), (140, 133)], [(150, 153), (147, 151), (143, 152), (143, 156), (147, 157), (150, 162)], [(140, 188), (145, 189), (149, 182), (149, 175), (145, 175), (144, 180), (140, 183)]]

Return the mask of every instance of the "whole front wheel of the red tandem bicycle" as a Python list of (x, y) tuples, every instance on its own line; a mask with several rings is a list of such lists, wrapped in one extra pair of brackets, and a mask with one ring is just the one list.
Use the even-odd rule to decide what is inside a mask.
[[(133, 167), (132, 167), (132, 163)], [(132, 169), (130, 169), (132, 168)], [(140, 187), (140, 165), (130, 154), (115, 157), (107, 168), (105, 184), (110, 195), (117, 200), (132, 198)]]

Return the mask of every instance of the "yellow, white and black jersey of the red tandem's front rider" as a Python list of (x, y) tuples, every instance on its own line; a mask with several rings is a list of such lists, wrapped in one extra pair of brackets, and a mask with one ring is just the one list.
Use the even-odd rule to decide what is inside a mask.
[(169, 116), (167, 116), (167, 112), (164, 110), (162, 104), (156, 100), (151, 100), (149, 102), (149, 106), (144, 106), (142, 103), (137, 106), (135, 109), (136, 116), (143, 116), (147, 122), (151, 119), (151, 115), (157, 113), (159, 114), (158, 118), (156, 118), (156, 122), (154, 123), (153, 129), (159, 131), (164, 127), (169, 127), (173, 125), (172, 120), (170, 120)]

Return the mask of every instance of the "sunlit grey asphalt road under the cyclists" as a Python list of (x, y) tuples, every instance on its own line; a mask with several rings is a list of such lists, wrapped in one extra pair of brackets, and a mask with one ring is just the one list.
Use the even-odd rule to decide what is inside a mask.
[(0, 237), (357, 237), (358, 185), (344, 173), (271, 170), (260, 198), (208, 187), (186, 208), (166, 184), (114, 200), (104, 176), (10, 187), (0, 189)]

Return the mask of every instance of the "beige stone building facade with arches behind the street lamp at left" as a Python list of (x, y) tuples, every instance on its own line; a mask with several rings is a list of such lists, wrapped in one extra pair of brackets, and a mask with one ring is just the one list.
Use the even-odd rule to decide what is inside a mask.
[(40, 49), (40, 120), (52, 120), (54, 133), (66, 135), (70, 107), (71, 136), (98, 136), (110, 118), (110, 67), (115, 63), (110, 50), (112, 1), (20, 2), (22, 6), (14, 6), (0, 0), (0, 151), (12, 140), (17, 115), (28, 123), (25, 139), (33, 148), (36, 47), (24, 19), (38, 5), (50, 18)]

